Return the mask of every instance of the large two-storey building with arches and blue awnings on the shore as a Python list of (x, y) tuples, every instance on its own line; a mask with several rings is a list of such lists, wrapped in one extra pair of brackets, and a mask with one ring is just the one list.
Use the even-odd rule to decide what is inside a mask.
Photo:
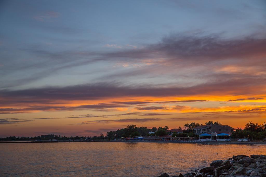
[(217, 124), (211, 124), (211, 125), (202, 125), (195, 127), (193, 129), (193, 132), (196, 135), (200, 135), (200, 139), (203, 138), (205, 140), (226, 140), (230, 139), (232, 132), (235, 128), (230, 127), (228, 125), (217, 125)]

